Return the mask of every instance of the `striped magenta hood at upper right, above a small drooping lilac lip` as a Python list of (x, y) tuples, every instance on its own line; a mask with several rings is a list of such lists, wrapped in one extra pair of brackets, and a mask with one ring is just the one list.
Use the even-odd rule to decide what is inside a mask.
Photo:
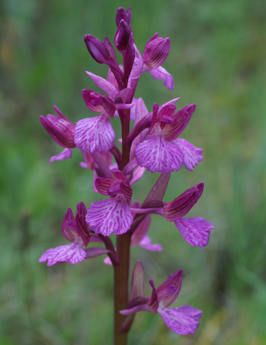
[(170, 38), (152, 36), (144, 48), (143, 61), (150, 69), (157, 69), (165, 61), (170, 50)]

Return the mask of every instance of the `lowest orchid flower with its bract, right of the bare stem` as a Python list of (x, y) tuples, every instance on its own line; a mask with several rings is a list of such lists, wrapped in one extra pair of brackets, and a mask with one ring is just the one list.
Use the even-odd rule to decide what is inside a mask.
[[(143, 266), (137, 263), (139, 268), (140, 286), (143, 281)], [(135, 266), (136, 267), (136, 266)], [(142, 267), (142, 269), (141, 269)], [(133, 271), (133, 279), (135, 280), (135, 270)], [(159, 313), (165, 321), (166, 326), (177, 334), (194, 334), (199, 327), (199, 319), (202, 311), (193, 308), (189, 305), (179, 308), (167, 308), (177, 298), (182, 283), (182, 270), (177, 271), (174, 275), (170, 275), (166, 281), (161, 284), (157, 289), (154, 286), (153, 280), (150, 280), (152, 287), (152, 295), (150, 299), (142, 295), (135, 297), (136, 294), (141, 293), (142, 289), (138, 289), (134, 293), (134, 299), (128, 303), (128, 308), (120, 311), (122, 315), (127, 315), (122, 331), (130, 329), (134, 314), (137, 311), (151, 311), (154, 314)], [(132, 286), (133, 283), (132, 283)]]

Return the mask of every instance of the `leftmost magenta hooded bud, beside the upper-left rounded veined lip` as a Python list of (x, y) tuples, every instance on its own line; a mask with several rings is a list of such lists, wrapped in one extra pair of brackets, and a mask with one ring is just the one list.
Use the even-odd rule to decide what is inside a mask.
[(58, 145), (65, 148), (76, 147), (74, 143), (75, 126), (60, 112), (56, 106), (54, 109), (61, 117), (50, 114), (46, 117), (40, 116), (41, 124)]

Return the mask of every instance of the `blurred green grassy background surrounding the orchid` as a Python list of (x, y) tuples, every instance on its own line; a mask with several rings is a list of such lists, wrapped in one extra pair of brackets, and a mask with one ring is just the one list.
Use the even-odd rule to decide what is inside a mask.
[[(81, 153), (48, 164), (61, 152), (39, 122), (57, 104), (75, 122), (91, 116), (81, 91), (95, 88), (85, 70), (105, 77), (89, 55), (85, 34), (113, 40), (119, 6), (132, 5), (140, 52), (158, 32), (169, 36), (164, 67), (174, 91), (144, 73), (136, 97), (149, 110), (181, 97), (196, 103), (183, 137), (203, 148), (193, 173), (171, 176), (165, 201), (203, 181), (205, 190), (189, 216), (212, 222), (202, 251), (173, 223), (153, 216), (149, 235), (160, 253), (132, 250), (148, 280), (158, 286), (183, 268), (174, 306), (203, 310), (194, 336), (168, 330), (159, 315), (138, 313), (129, 344), (266, 344), (266, 101), (265, 3), (260, 0), (3, 0), (0, 2), (0, 345), (112, 343), (112, 268), (102, 257), (47, 268), (38, 258), (66, 244), (61, 223), (67, 207), (87, 207), (100, 195)], [(264, 81), (264, 83), (263, 83)], [(118, 128), (118, 120), (113, 121)], [(117, 132), (118, 133), (118, 132)], [(118, 133), (117, 138), (120, 137)], [(134, 185), (143, 201), (158, 174)]]

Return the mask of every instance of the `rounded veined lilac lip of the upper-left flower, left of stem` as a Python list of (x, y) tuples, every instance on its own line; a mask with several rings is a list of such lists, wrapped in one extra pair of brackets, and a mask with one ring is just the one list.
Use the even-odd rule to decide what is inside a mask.
[(115, 133), (109, 116), (100, 114), (76, 123), (74, 141), (81, 151), (107, 152), (113, 146)]

